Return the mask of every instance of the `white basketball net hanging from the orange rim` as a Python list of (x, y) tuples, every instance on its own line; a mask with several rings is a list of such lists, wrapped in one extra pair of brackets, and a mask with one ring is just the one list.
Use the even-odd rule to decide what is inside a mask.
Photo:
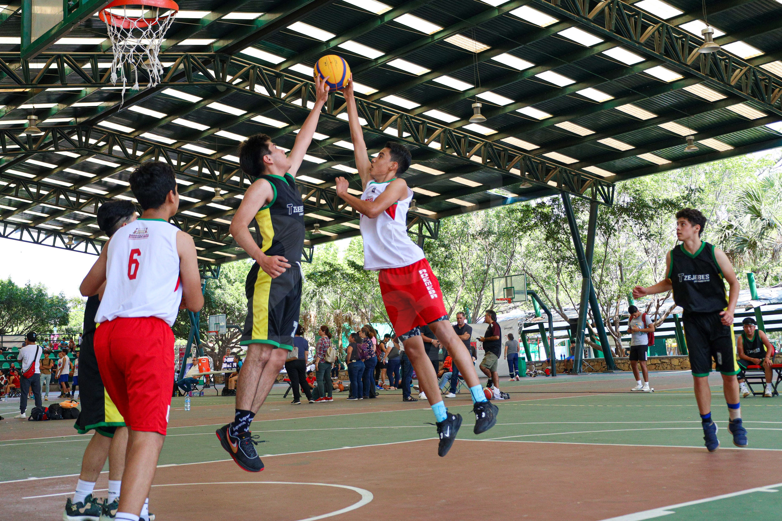
[[(148, 8), (149, 9), (149, 8)], [(126, 77), (126, 64), (131, 70), (133, 77), (133, 87), (135, 91), (138, 87), (138, 67), (142, 67), (149, 75), (149, 84), (147, 87), (155, 87), (160, 83), (160, 76), (163, 74), (163, 64), (158, 59), (160, 45), (166, 31), (174, 23), (177, 12), (168, 9), (153, 9), (144, 13), (145, 18), (128, 18), (138, 12), (138, 9), (112, 9), (115, 16), (123, 16), (127, 23), (120, 26), (106, 23), (111, 41), (111, 50), (114, 59), (111, 62), (111, 82), (117, 84), (117, 80), (122, 80), (122, 98), (124, 101), (125, 90), (131, 78)], [(126, 14), (127, 13), (127, 14)], [(162, 15), (162, 16), (161, 16)], [(154, 23), (152, 23), (154, 21)], [(129, 25), (130, 27), (122, 27)], [(141, 27), (139, 27), (141, 26)]]

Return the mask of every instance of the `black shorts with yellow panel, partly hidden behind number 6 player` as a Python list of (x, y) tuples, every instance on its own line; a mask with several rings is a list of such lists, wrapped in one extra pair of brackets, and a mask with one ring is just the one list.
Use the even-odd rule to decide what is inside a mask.
[(125, 426), (125, 419), (114, 405), (100, 378), (98, 360), (92, 344), (94, 331), (84, 334), (79, 352), (79, 394), (81, 412), (74, 429), (85, 434), (91, 429), (103, 436), (113, 437), (117, 427)]

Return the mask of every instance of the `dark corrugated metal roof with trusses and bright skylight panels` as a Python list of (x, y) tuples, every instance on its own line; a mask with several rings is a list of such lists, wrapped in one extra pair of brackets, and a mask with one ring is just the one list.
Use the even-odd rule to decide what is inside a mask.
[[(409, 223), (424, 237), (460, 212), (562, 192), (610, 205), (618, 181), (782, 146), (777, 0), (706, 2), (723, 46), (711, 54), (697, 52), (696, 0), (182, 0), (163, 81), (145, 88), (141, 70), (124, 93), (89, 16), (106, 2), (80, 0), (82, 23), (22, 52), (14, 1), (0, 12), (2, 237), (70, 235), (97, 253), (98, 206), (131, 198), (130, 172), (160, 159), (203, 265), (242, 258), (228, 227), (251, 180), (236, 146), (264, 132), (292, 147), (329, 53), (350, 63), (370, 152), (411, 148)], [(476, 100), (482, 124), (468, 122)], [(31, 114), (44, 134), (21, 133)], [(310, 246), (359, 233), (333, 190), (356, 172), (349, 141), (332, 95), (298, 177)]]

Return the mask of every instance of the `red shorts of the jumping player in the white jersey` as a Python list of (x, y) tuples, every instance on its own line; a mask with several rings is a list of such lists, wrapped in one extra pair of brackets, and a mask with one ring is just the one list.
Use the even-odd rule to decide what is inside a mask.
[(443, 291), (426, 259), (410, 266), (381, 269), (378, 282), (383, 304), (397, 335), (448, 314), (443, 304)]

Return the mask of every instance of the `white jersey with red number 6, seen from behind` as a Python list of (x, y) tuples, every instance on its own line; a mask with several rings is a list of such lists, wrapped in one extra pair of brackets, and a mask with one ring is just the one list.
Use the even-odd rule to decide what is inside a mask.
[(182, 299), (178, 231), (163, 219), (137, 219), (113, 234), (106, 252), (106, 291), (95, 322), (156, 316), (174, 324)]

